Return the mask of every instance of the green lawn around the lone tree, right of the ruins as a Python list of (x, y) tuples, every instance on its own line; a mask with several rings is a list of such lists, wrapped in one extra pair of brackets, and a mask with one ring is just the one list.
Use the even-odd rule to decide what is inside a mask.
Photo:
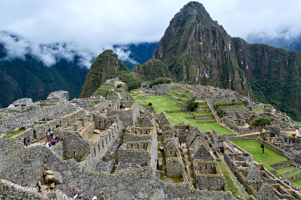
[(260, 142), (257, 140), (252, 141), (233, 141), (234, 144), (242, 148), (243, 150), (249, 152), (253, 155), (253, 160), (255, 160), (257, 163), (263, 163), (265, 168), (268, 170), (274, 170), (270, 165), (281, 163), (281, 160), (284, 160), (287, 158), (284, 156), (281, 156), (277, 152), (271, 150), (268, 147), (264, 148), (265, 157), (262, 155), (262, 148), (260, 148)]

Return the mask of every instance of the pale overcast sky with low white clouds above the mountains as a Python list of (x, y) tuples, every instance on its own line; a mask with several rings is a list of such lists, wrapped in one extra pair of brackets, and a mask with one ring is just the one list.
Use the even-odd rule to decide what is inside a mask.
[[(113, 44), (159, 41), (170, 20), (188, 2), (1, 0), (0, 43), (5, 44), (11, 57), (21, 58), (30, 47), (47, 65), (55, 63), (54, 56), (72, 59), (76, 52), (87, 58), (83, 64), (88, 67), (89, 59)], [(199, 2), (232, 37), (246, 39), (249, 34), (260, 34), (289, 38), (301, 32), (299, 0)], [(46, 46), (51, 43), (57, 43), (57, 49)]]

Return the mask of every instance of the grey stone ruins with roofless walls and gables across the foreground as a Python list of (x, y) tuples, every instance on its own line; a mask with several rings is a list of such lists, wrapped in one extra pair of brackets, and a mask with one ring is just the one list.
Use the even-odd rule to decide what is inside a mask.
[[(177, 87), (212, 102), (240, 98), (234, 91), (209, 86), (178, 84)], [(301, 148), (301, 139), (284, 138), (279, 131), (278, 126), (290, 130), (285, 114), (266, 110), (254, 113), (262, 105), (247, 98), (243, 102), (252, 110), (250, 113), (234, 111), (222, 120), (243, 130), (240, 126), (244, 123), (260, 115), (268, 117), (273, 122), (271, 135), (277, 134), (278, 139), (270, 138), (266, 143), (286, 150), (285, 145), (294, 151)], [(127, 109), (119, 110), (119, 104), (125, 104)], [(105, 115), (101, 113), (103, 107)], [(219, 136), (216, 130), (204, 132), (191, 124), (172, 125), (163, 113), (155, 115), (149, 107), (142, 112), (136, 101), (46, 100), (1, 109), (0, 116), (0, 198), (70, 199), (79, 190), (80, 199), (93, 196), (98, 199), (234, 199), (217, 163), (221, 160), (219, 154), (224, 155), (251, 199), (293, 198), (290, 187), (278, 181), (262, 164), (255, 164), (251, 154), (235, 152), (227, 135)], [(45, 138), (46, 131), (57, 124), (60, 126), (54, 129), (54, 134), (60, 136), (60, 141), (51, 148), (40, 145), (38, 141)], [(160, 126), (160, 133), (156, 125)], [(5, 134), (22, 127), (28, 128), (16, 136)], [(98, 132), (97, 139), (91, 140), (95, 132)], [(162, 134), (162, 148), (158, 148), (158, 133)], [(30, 137), (32, 145), (23, 145), (24, 137)], [(180, 141), (186, 143), (186, 149), (178, 146)], [(158, 157), (161, 151), (164, 156)], [(287, 155), (292, 155), (290, 159), (296, 162), (301, 161), (301, 156)], [(180, 181), (162, 181), (164, 176)], [(37, 193), (38, 180), (42, 181), (43, 193)]]

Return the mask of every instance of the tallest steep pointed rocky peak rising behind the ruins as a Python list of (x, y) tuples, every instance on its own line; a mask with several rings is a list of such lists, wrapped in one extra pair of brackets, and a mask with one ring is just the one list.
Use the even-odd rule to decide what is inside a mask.
[(178, 81), (250, 93), (237, 64), (233, 39), (198, 2), (188, 3), (175, 14), (153, 58), (163, 61)]

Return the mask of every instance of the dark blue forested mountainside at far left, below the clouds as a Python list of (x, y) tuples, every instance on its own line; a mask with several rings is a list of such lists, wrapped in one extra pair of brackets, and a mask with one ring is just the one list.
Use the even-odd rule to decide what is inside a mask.
[(73, 62), (62, 59), (47, 67), (31, 55), (25, 59), (1, 59), (5, 56), (0, 44), (0, 108), (25, 97), (33, 101), (46, 100), (50, 92), (57, 90), (69, 91), (70, 99), (78, 98), (88, 73), (86, 67), (79, 66), (79, 58)]

